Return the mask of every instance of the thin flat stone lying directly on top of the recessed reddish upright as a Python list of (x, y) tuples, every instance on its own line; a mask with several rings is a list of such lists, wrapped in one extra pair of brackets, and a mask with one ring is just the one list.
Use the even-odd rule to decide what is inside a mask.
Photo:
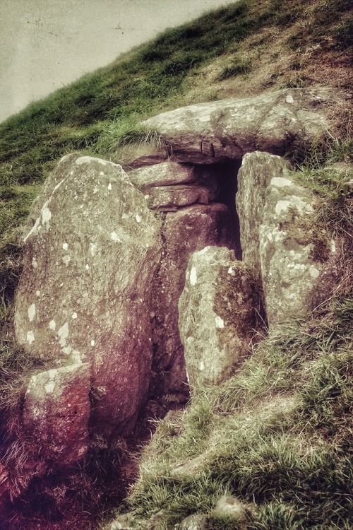
[(202, 186), (163, 186), (150, 188), (145, 195), (148, 207), (158, 210), (177, 209), (190, 204), (208, 204), (208, 189)]

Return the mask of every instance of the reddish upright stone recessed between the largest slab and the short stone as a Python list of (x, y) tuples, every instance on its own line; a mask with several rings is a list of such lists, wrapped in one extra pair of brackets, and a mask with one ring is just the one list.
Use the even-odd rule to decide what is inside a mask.
[(178, 300), (192, 252), (208, 245), (227, 246), (228, 210), (224, 204), (195, 205), (165, 214), (163, 252), (153, 285), (153, 384), (159, 391), (186, 390), (184, 348), (178, 328)]

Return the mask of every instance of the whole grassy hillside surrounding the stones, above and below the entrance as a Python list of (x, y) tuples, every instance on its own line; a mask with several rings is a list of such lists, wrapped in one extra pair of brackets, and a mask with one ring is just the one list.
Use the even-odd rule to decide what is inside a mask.
[[(0, 124), (0, 419), (16, 409), (28, 374), (42, 366), (13, 339), (13, 295), (21, 226), (56, 160), (83, 151), (119, 161), (121, 144), (145, 137), (136, 126), (140, 119), (180, 105), (285, 87), (347, 92), (351, 57), (350, 0), (241, 0), (167, 31)], [(311, 322), (268, 338), (239, 376), (219, 389), (196, 392), (181, 426), (160, 425), (151, 449), (160, 461), (147, 454), (128, 506), (144, 517), (167, 507), (162, 527), (172, 528), (192, 510), (209, 512), (217, 495), (229, 491), (249, 504), (256, 529), (348, 528), (352, 199), (347, 174), (333, 170), (333, 163), (352, 160), (351, 116), (342, 110), (337, 130), (313, 146), (297, 174), (321, 197), (317, 223), (345, 248), (342, 282)], [(103, 452), (107, 462), (100, 454), (97, 465), (105, 485), (97, 497), (109, 497), (109, 470), (124, 459), (120, 449)], [(181, 454), (205, 457), (205, 465), (192, 478), (175, 478), (171, 470)], [(79, 504), (84, 499), (94, 525), (102, 504), (93, 501), (97, 469), (87, 466), (65, 488), (78, 490), (75, 498)], [(65, 510), (69, 501), (64, 499)], [(48, 528), (66, 528), (58, 524)], [(73, 527), (81, 526), (76, 521)]]

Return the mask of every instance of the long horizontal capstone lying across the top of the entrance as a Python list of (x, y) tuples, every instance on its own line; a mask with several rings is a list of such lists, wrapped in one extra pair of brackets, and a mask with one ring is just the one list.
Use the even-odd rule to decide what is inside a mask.
[[(144, 123), (170, 143), (172, 160), (215, 163), (256, 150), (283, 155), (328, 128), (329, 101), (328, 89), (291, 88), (181, 107)], [(132, 165), (138, 164), (136, 155)]]

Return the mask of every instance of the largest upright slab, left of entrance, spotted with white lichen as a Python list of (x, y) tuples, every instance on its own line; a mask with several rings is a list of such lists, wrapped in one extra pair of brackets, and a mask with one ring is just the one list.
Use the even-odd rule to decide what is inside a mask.
[(157, 220), (119, 165), (68, 155), (44, 186), (25, 236), (15, 328), (44, 360), (89, 363), (91, 426), (133, 426), (148, 389)]

